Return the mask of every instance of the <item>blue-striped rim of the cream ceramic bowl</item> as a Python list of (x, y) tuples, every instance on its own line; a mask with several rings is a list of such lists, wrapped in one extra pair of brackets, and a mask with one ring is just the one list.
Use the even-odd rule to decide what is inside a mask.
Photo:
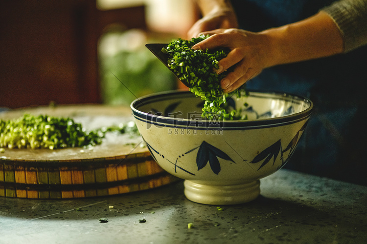
[[(266, 118), (266, 119), (258, 119), (258, 120), (234, 120), (234, 121), (217, 121), (213, 123), (209, 120), (190, 120), (190, 119), (182, 119), (182, 118), (172, 118), (162, 115), (156, 115), (153, 113), (146, 113), (138, 110), (140, 106), (145, 105), (144, 102), (155, 102), (157, 100), (169, 100), (172, 96), (180, 96), (182, 98), (195, 96), (194, 93), (187, 90), (171, 90), (171, 91), (163, 91), (152, 93), (149, 95), (142, 96), (140, 98), (135, 99), (130, 104), (130, 108), (132, 110), (132, 114), (135, 119), (147, 122), (159, 126), (167, 126), (174, 128), (188, 128), (195, 127), (195, 129), (256, 129), (260, 127), (275, 127), (285, 124), (296, 123), (299, 121), (303, 121), (310, 117), (311, 112), (313, 110), (313, 102), (306, 97), (294, 95), (286, 92), (276, 92), (276, 91), (262, 91), (262, 90), (247, 90), (250, 94), (258, 94), (259, 95), (268, 95), (268, 96), (277, 96), (279, 98), (288, 98), (295, 99), (301, 102), (309, 103), (309, 107), (305, 110), (294, 113), (291, 115), (286, 115), (282, 117), (276, 118)], [(200, 122), (200, 124), (198, 124)]]

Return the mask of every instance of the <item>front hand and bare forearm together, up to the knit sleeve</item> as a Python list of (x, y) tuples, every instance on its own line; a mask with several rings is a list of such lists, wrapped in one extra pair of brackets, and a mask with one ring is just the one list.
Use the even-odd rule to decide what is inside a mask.
[(221, 81), (224, 92), (239, 88), (265, 68), (343, 53), (343, 36), (330, 16), (320, 11), (295, 23), (261, 32), (240, 29), (216, 29), (200, 34), (210, 35), (192, 49), (229, 48), (220, 60), (218, 74), (233, 68)]

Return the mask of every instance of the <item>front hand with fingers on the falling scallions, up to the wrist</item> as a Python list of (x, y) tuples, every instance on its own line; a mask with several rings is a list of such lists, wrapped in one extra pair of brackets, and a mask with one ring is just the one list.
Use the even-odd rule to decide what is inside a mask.
[(260, 74), (264, 68), (272, 66), (272, 50), (266, 35), (240, 29), (217, 29), (201, 34), (208, 34), (210, 37), (197, 43), (192, 49), (229, 48), (229, 54), (219, 61), (219, 69), (216, 70), (220, 74), (230, 67), (233, 68), (221, 81), (225, 93), (239, 88)]

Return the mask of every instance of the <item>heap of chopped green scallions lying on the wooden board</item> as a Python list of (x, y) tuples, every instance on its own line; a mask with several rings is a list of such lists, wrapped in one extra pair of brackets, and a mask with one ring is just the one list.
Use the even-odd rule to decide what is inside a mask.
[(102, 143), (105, 133), (138, 134), (136, 125), (103, 127), (87, 132), (80, 123), (70, 118), (47, 115), (29, 115), (14, 120), (0, 120), (0, 148), (86, 147)]

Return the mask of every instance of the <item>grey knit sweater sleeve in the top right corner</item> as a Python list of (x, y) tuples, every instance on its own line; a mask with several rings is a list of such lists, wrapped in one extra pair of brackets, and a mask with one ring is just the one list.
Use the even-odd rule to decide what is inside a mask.
[(339, 27), (345, 53), (367, 44), (367, 0), (339, 0), (321, 11)]

